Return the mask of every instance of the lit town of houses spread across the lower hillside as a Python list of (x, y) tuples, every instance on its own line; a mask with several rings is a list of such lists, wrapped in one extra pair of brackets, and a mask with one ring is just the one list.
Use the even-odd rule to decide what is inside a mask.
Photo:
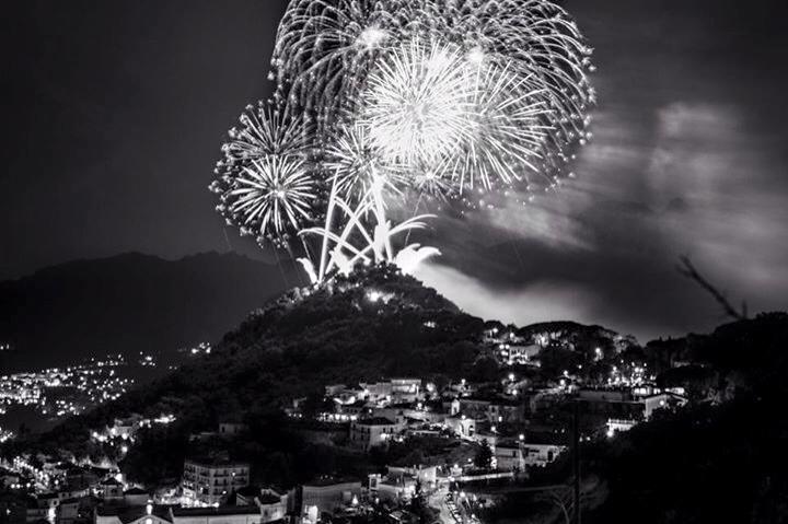
[(557, 328), (523, 336), (490, 322), (479, 346), (487, 376), (327, 383), (321, 398), (282, 400), (281, 423), (358, 461), (354, 474), (260, 485), (259, 464), (244, 455), (256, 436), (233, 419), (190, 434), (179, 478), (141, 484), (119, 464), (141, 432), (165, 429), (176, 416), (129, 414), (91, 432), (109, 451), (101, 463), (40, 452), (4, 457), (0, 522), (466, 524), (519, 491), (568, 515), (576, 490), (593, 505), (602, 489), (575, 469), (581, 443), (616, 439), (688, 401), (684, 387), (657, 385), (653, 363), (626, 337), (580, 348)]

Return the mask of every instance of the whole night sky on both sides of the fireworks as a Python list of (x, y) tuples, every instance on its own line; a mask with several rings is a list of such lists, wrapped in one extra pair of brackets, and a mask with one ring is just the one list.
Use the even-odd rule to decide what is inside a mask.
[[(206, 186), (225, 130), (269, 90), (283, 0), (16, 3), (0, 22), (0, 279), (128, 251), (265, 257)], [(439, 221), (443, 256), (419, 277), (484, 317), (648, 339), (722, 321), (675, 271), (686, 254), (751, 310), (788, 307), (786, 2), (565, 5), (599, 67), (578, 178)]]

